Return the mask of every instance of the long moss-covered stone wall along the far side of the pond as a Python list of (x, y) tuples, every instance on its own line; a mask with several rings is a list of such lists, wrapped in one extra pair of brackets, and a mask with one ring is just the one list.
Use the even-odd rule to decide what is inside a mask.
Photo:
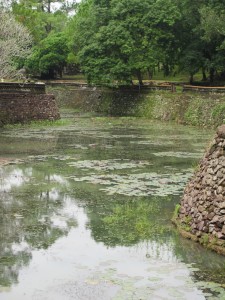
[(103, 88), (49, 88), (60, 108), (110, 116), (134, 116), (214, 128), (225, 122), (225, 94), (132, 92)]

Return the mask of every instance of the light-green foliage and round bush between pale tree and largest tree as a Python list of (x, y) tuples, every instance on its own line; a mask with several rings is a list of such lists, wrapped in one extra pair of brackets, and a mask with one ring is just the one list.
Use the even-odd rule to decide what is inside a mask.
[[(53, 6), (56, 2), (61, 2), (62, 5)], [(42, 78), (62, 75), (69, 53), (64, 29), (69, 12), (74, 8), (75, 4), (62, 0), (12, 2), (12, 12), (16, 19), (25, 25), (33, 36), (33, 53), (25, 62), (26, 68), (33, 75), (41, 75)]]

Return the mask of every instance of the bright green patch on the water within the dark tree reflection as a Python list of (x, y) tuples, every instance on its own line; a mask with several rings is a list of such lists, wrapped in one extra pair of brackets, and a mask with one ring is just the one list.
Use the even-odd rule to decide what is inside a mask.
[(106, 246), (131, 246), (160, 237), (167, 231), (167, 227), (160, 224), (160, 218), (155, 218), (159, 212), (157, 199), (114, 202), (111, 206), (102, 207), (101, 214), (99, 207), (88, 209), (87, 227), (91, 229), (93, 238)]

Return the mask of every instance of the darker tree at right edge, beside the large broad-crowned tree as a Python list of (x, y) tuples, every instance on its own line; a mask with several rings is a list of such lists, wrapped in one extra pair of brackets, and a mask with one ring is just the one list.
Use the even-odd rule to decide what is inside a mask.
[(224, 73), (225, 1), (177, 0), (182, 12), (177, 36), (179, 37), (180, 69), (189, 72), (190, 82), (199, 70), (204, 81), (209, 72), (210, 82), (216, 73)]

